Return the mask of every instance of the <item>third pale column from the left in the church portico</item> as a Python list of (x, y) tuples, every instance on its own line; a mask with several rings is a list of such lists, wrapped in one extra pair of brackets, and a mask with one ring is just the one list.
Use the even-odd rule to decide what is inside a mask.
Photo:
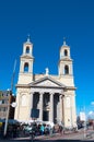
[(54, 122), (54, 94), (50, 94), (50, 110), (49, 110), (49, 121)]

